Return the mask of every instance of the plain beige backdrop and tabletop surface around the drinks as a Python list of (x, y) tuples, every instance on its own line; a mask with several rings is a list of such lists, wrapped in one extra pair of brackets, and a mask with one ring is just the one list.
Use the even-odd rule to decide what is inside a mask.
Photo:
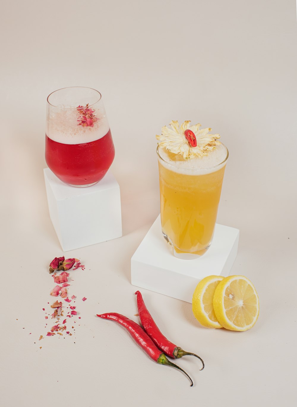
[[(1, 11), (2, 405), (294, 405), (296, 2), (2, 0)], [(67, 252), (86, 265), (72, 292), (88, 300), (75, 337), (41, 344), (47, 265), (63, 254), (43, 182), (46, 97), (75, 85), (104, 98), (124, 236)], [(159, 213), (154, 136), (172, 119), (211, 126), (228, 146), (218, 221), (240, 229), (232, 274), (260, 297), (256, 326), (233, 333), (142, 290), (163, 333), (203, 357), (203, 372), (179, 361), (193, 388), (94, 316), (137, 321), (130, 258)]]

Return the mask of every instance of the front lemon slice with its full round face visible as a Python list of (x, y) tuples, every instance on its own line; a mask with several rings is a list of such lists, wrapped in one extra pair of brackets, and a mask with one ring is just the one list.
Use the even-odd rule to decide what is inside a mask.
[(245, 331), (256, 324), (259, 298), (248, 278), (229, 276), (218, 284), (213, 307), (219, 323), (224, 328)]

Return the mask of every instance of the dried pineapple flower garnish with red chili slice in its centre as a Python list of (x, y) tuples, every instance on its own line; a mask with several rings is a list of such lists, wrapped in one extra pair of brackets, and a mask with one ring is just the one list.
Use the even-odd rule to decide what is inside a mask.
[(181, 125), (172, 120), (169, 127), (162, 127), (162, 134), (156, 135), (158, 145), (171, 153), (182, 155), (185, 159), (203, 157), (221, 142), (219, 134), (208, 134), (210, 127), (199, 130), (200, 123), (190, 126), (191, 120), (186, 120)]

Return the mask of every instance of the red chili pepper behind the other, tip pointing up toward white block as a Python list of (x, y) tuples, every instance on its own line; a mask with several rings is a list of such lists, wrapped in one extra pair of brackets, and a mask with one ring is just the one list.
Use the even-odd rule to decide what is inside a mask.
[(200, 370), (203, 370), (204, 361), (201, 359), (201, 357), (199, 357), (195, 353), (185, 352), (182, 348), (170, 342), (163, 335), (163, 333), (160, 332), (158, 326), (156, 325), (156, 322), (154, 322), (154, 319), (152, 318), (152, 315), (147, 310), (141, 292), (136, 291), (135, 294), (137, 295), (137, 308), (143, 329), (145, 330), (147, 335), (152, 338), (158, 348), (163, 350), (163, 352), (168, 356), (174, 357), (175, 359), (179, 359), (180, 357), (183, 357), (185, 355), (195, 356), (202, 361), (202, 368)]

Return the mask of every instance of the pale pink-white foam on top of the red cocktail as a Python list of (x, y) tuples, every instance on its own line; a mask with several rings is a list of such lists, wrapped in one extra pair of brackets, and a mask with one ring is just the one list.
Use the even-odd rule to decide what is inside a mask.
[(81, 144), (99, 140), (108, 133), (109, 125), (104, 108), (95, 109), (98, 118), (94, 127), (79, 125), (76, 109), (52, 109), (48, 114), (46, 135), (58, 143)]

